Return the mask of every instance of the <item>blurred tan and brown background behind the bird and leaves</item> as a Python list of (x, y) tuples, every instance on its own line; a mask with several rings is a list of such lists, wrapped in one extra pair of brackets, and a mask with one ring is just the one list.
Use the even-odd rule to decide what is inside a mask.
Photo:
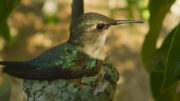
[[(0, 37), (0, 60), (30, 60), (65, 42), (69, 36), (71, 3), (72, 0), (22, 0), (8, 18), (11, 41), (7, 43)], [(105, 50), (111, 52), (111, 60), (120, 73), (115, 101), (153, 101), (140, 53), (148, 32), (147, 6), (148, 0), (84, 0), (85, 12), (145, 22), (119, 25), (109, 31)], [(178, 23), (179, 11), (177, 0), (165, 18), (158, 45)], [(10, 96), (10, 101), (22, 101), (20, 83), (18, 78), (1, 75), (0, 98)], [(11, 87), (11, 94), (7, 95)]]

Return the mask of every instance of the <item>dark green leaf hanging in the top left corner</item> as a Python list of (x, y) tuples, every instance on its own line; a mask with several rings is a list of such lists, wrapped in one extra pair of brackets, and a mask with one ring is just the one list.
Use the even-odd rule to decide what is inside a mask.
[(7, 25), (7, 17), (20, 0), (0, 0), (0, 35), (9, 43), (10, 33)]

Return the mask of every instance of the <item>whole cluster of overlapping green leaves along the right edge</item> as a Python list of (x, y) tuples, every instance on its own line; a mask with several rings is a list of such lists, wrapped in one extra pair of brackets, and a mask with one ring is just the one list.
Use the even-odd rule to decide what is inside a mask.
[(160, 48), (156, 43), (163, 20), (175, 0), (149, 1), (149, 32), (142, 48), (142, 61), (150, 74), (150, 85), (156, 101), (178, 101), (177, 84), (180, 75), (180, 24), (164, 39)]

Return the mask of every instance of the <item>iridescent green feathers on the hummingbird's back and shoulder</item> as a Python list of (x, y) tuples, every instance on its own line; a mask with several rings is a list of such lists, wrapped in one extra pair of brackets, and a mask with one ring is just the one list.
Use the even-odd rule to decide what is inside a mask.
[(62, 64), (63, 69), (75, 69), (76, 65), (78, 65), (78, 68), (85, 65), (88, 69), (96, 66), (96, 59), (84, 54), (71, 44), (64, 43), (42, 53), (42, 55), (26, 64), (39, 69), (53, 68)]

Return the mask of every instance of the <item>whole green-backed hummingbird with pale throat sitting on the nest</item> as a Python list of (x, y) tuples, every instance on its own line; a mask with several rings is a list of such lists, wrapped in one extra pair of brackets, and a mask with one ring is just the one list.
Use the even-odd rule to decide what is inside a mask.
[(82, 14), (70, 28), (69, 40), (28, 61), (0, 61), (2, 72), (28, 80), (76, 79), (98, 73), (111, 26), (142, 23), (115, 20), (98, 13)]

